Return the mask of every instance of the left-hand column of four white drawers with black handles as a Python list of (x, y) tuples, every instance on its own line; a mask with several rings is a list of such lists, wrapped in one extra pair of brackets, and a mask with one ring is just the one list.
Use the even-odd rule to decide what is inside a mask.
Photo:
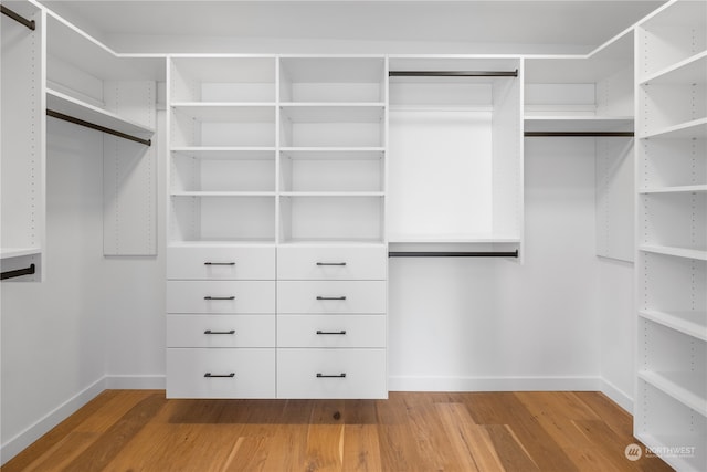
[(275, 395), (275, 248), (169, 248), (167, 396)]

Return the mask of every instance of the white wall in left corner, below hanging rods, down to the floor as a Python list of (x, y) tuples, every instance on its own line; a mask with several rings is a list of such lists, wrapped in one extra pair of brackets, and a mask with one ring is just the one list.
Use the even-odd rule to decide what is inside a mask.
[(105, 388), (163, 388), (163, 251), (104, 258), (103, 139), (48, 118), (45, 281), (1, 285), (2, 462)]

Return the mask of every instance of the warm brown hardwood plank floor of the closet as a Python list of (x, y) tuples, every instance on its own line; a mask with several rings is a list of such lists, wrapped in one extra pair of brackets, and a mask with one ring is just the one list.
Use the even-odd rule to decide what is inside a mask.
[(633, 462), (597, 392), (391, 392), (388, 400), (167, 400), (106, 390), (12, 471), (669, 471)]

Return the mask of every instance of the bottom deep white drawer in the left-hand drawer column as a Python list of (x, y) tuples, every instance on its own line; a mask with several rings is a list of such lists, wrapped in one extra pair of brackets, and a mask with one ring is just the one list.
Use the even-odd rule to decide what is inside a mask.
[(274, 398), (275, 349), (169, 348), (167, 397)]

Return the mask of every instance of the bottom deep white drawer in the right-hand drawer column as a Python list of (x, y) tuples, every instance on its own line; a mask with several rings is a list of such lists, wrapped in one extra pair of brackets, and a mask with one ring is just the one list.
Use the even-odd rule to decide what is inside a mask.
[(277, 349), (277, 398), (387, 398), (384, 349)]

